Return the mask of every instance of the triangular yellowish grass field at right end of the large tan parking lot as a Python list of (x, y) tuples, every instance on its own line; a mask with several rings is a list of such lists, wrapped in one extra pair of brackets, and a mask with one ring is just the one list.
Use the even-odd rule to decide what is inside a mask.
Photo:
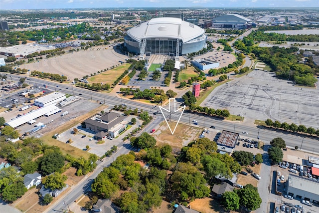
[(131, 66), (130, 63), (125, 63), (117, 66), (113, 69), (107, 70), (95, 76), (89, 77), (88, 81), (90, 83), (104, 83), (112, 85), (114, 81), (122, 75), (122, 73)]

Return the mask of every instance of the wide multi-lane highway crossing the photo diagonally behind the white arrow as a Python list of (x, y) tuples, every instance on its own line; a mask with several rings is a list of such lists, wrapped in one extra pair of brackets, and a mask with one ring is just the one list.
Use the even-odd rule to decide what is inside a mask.
[[(13, 80), (18, 80), (18, 75), (12, 75)], [(8, 79), (10, 77), (8, 76)], [(127, 107), (132, 109), (139, 108), (148, 111), (152, 114), (155, 111), (159, 111), (157, 105), (151, 105), (144, 102), (131, 101), (125, 98), (118, 97), (116, 95), (110, 95), (108, 93), (94, 92), (87, 89), (82, 89), (75, 87), (71, 84), (57, 83), (53, 81), (47, 81), (43, 79), (32, 78), (31, 81), (26, 80), (27, 83), (31, 83), (37, 86), (43, 86), (45, 84), (50, 90), (61, 91), (68, 94), (74, 94), (88, 100), (99, 100), (105, 102), (107, 105), (113, 107), (114, 105), (121, 105), (122, 103), (127, 104)], [(81, 95), (80, 95), (81, 94)], [(160, 116), (159, 116), (160, 117)], [(173, 120), (178, 120), (175, 116), (172, 117)], [(216, 126), (217, 130), (228, 130), (242, 133), (243, 131), (248, 132), (248, 137), (252, 139), (257, 139), (269, 143), (273, 138), (281, 137), (286, 141), (288, 147), (298, 146), (303, 151), (310, 153), (319, 153), (318, 139), (305, 137), (303, 138), (300, 135), (294, 135), (287, 132), (276, 131), (264, 127), (258, 127), (249, 122), (229, 122), (221, 120), (212, 116), (203, 116), (195, 113), (189, 113), (187, 111), (182, 115), (180, 122), (186, 124), (192, 124), (192, 120), (197, 120), (198, 127), (209, 128), (211, 125)]]

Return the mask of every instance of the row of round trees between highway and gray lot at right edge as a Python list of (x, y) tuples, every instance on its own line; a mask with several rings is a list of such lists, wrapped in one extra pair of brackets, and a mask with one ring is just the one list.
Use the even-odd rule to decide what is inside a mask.
[(305, 125), (301, 124), (297, 126), (294, 123), (288, 124), (286, 122), (280, 123), (279, 121), (273, 122), (271, 119), (267, 119), (265, 121), (266, 126), (268, 127), (274, 127), (276, 129), (284, 129), (287, 131), (292, 131), (292, 132), (301, 132), (301, 133), (307, 133), (310, 135), (317, 135), (319, 136), (319, 130), (316, 130), (313, 127), (306, 127)]

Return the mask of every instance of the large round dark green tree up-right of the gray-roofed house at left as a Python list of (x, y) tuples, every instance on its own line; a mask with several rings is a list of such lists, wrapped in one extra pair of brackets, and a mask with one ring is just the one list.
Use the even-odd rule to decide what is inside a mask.
[(39, 169), (43, 174), (48, 175), (58, 171), (64, 166), (64, 156), (58, 149), (48, 149), (44, 155), (39, 158)]

